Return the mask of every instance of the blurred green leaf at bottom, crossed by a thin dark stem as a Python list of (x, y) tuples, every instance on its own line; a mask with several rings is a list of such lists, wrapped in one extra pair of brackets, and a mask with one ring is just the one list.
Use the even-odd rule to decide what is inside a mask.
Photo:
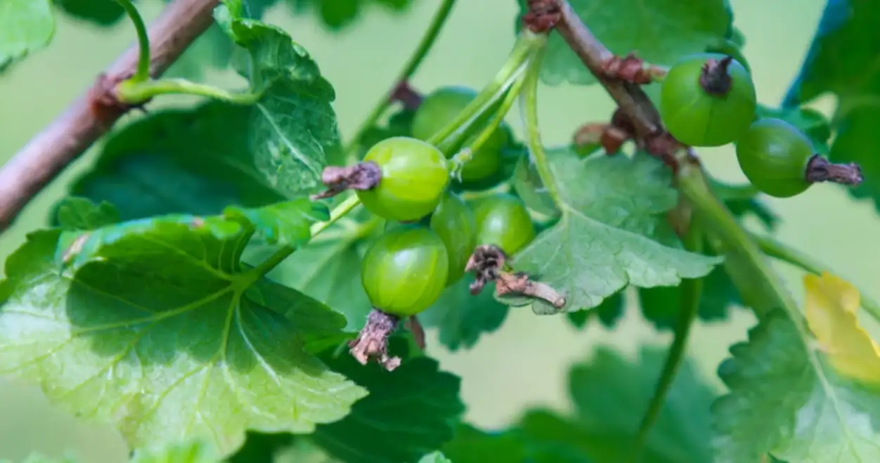
[[(528, 412), (518, 428), (526, 439), (573, 445), (596, 463), (629, 461), (636, 430), (648, 408), (665, 352), (642, 347), (627, 360), (599, 347), (589, 362), (576, 364), (568, 387), (576, 413), (563, 417), (548, 410)], [(708, 406), (714, 394), (686, 359), (649, 433), (642, 463), (711, 463)], [(453, 456), (453, 458), (455, 458)]]

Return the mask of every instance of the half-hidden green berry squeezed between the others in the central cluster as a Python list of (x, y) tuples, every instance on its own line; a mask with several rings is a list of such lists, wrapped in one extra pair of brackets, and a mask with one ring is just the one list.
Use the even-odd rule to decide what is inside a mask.
[(450, 192), (434, 210), (430, 228), (443, 240), (449, 255), (449, 286), (465, 276), (467, 260), (477, 247), (477, 222), (470, 206)]

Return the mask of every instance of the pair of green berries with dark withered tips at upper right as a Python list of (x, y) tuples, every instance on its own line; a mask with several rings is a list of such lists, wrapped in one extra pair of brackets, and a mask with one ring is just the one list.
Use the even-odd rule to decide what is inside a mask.
[(690, 146), (736, 143), (743, 173), (762, 193), (788, 198), (818, 181), (862, 181), (856, 166), (830, 164), (801, 130), (760, 118), (757, 108), (751, 74), (730, 55), (688, 55), (664, 77), (660, 114), (670, 134)]

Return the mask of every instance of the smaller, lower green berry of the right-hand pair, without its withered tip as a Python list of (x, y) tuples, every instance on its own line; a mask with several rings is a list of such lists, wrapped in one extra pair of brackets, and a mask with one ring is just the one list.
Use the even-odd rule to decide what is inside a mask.
[(810, 139), (781, 119), (761, 119), (737, 141), (737, 161), (745, 177), (766, 195), (789, 198), (810, 187)]

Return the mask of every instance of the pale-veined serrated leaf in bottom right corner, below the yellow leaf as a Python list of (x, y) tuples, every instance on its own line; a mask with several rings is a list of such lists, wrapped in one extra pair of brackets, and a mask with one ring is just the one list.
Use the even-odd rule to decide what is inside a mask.
[(808, 343), (776, 311), (731, 346), (718, 369), (730, 393), (712, 407), (719, 460), (880, 461), (880, 393), (840, 378)]

